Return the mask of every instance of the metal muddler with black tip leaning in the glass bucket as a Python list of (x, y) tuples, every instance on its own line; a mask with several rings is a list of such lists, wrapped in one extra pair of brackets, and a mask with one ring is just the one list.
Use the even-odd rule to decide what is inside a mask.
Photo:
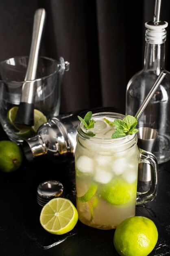
[[(34, 81), (37, 73), (37, 64), (39, 57), (39, 49), (41, 38), (44, 30), (46, 11), (43, 8), (37, 9), (34, 15), (33, 35), (28, 60), (26, 76), (22, 85), (22, 95), (20, 105), (18, 107), (15, 124), (23, 124), (26, 126), (34, 125)], [(32, 80), (32, 81), (31, 81)]]

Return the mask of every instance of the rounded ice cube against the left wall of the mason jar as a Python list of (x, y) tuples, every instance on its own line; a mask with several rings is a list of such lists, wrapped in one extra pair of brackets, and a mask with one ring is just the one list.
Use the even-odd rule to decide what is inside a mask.
[(93, 173), (94, 160), (86, 155), (82, 155), (76, 161), (76, 168), (82, 173)]

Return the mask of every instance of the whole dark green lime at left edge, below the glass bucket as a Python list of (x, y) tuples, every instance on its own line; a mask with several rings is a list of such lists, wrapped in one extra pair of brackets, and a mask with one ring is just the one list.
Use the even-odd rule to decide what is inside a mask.
[(13, 141), (0, 141), (0, 171), (10, 173), (22, 164), (22, 150)]

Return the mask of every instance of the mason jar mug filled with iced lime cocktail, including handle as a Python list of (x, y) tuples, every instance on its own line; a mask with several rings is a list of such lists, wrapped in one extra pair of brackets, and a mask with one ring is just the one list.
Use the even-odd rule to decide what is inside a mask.
[[(135, 215), (138, 203), (153, 200), (157, 191), (157, 162), (154, 156), (137, 147), (136, 133), (112, 138), (115, 119), (124, 115), (98, 113), (92, 116), (94, 128), (78, 126), (75, 151), (76, 207), (85, 225), (115, 229), (124, 219)], [(152, 187), (137, 195), (137, 172), (141, 161), (153, 166)], [(152, 194), (152, 195), (151, 195)]]

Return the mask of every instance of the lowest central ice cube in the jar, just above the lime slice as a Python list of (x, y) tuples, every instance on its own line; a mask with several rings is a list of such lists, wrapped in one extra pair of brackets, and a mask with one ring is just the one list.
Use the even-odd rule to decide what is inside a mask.
[(112, 173), (104, 171), (101, 167), (97, 167), (94, 175), (94, 180), (102, 184), (107, 184), (111, 181), (112, 176)]

